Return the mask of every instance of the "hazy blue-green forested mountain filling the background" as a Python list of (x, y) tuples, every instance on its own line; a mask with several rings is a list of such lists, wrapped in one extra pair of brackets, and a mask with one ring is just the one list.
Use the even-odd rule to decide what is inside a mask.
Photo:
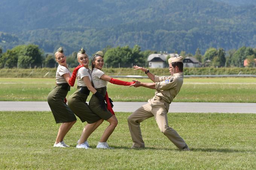
[[(204, 52), (256, 47), (256, 6), (233, 0), (1, 0), (0, 46), (88, 54), (138, 44), (142, 50)], [(239, 6), (242, 5), (242, 6)], [(9, 39), (3, 39), (8, 36)]]

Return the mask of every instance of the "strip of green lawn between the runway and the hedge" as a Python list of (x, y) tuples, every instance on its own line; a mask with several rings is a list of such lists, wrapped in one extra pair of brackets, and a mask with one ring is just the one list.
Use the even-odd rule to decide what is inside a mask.
[[(138, 80), (150, 82), (149, 79)], [(46, 101), (48, 93), (55, 87), (55, 79), (1, 78), (0, 86), (0, 101)], [(256, 102), (255, 87), (256, 78), (184, 78), (184, 84), (174, 102)], [(67, 98), (75, 89), (76, 84), (71, 87)], [(155, 93), (155, 90), (144, 87), (134, 88), (111, 83), (108, 83), (107, 89), (113, 101), (145, 102)]]

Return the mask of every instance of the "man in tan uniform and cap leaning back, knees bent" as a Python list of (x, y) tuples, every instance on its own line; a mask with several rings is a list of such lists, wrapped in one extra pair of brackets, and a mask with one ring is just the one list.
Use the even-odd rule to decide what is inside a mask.
[(155, 89), (156, 92), (155, 96), (148, 100), (147, 104), (134, 111), (133, 114), (128, 117), (128, 126), (131, 138), (133, 139), (131, 149), (145, 147), (140, 131), (140, 122), (154, 116), (160, 131), (166, 135), (178, 149), (190, 150), (183, 138), (181, 138), (174, 129), (169, 127), (167, 118), (169, 105), (178, 94), (183, 84), (183, 57), (172, 57), (168, 60), (168, 63), (171, 76), (166, 77), (158, 77), (157, 75), (151, 74), (148, 69), (134, 66), (134, 70), (140, 69), (144, 71), (154, 83), (140, 83), (136, 81), (136, 83), (131, 86), (147, 87)]

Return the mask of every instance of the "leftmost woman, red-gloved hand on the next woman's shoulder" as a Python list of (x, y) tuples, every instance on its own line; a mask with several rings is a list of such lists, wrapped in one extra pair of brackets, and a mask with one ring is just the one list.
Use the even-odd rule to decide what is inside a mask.
[(70, 90), (69, 83), (71, 80), (74, 80), (76, 69), (79, 69), (79, 67), (75, 68), (72, 77), (70, 77), (71, 72), (67, 68), (66, 56), (64, 55), (61, 47), (56, 51), (55, 59), (59, 64), (56, 71), (56, 86), (49, 93), (47, 102), (52, 110), (55, 122), (61, 123), (61, 126), (59, 127), (58, 135), (53, 146), (69, 147), (64, 143), (63, 139), (67, 132), (75, 124), (76, 116), (67, 106), (66, 102), (64, 102), (64, 99), (66, 99), (67, 93)]

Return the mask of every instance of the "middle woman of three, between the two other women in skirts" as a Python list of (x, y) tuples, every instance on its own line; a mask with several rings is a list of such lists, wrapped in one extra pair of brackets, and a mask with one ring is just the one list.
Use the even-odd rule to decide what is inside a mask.
[[(87, 142), (87, 138), (90, 134), (98, 128), (98, 126), (103, 122), (103, 119), (99, 117), (97, 114), (93, 113), (88, 104), (86, 103), (86, 99), (90, 93), (90, 91), (95, 95), (97, 95), (97, 91), (93, 88), (91, 84), (91, 69), (88, 68), (89, 59), (85, 50), (81, 48), (79, 53), (77, 54), (77, 59), (79, 65), (84, 67), (80, 68), (77, 72), (77, 80), (78, 80), (78, 88), (69, 98), (69, 107), (71, 110), (79, 117), (82, 122), (87, 122), (88, 124), (84, 127), (82, 135), (78, 140), (77, 148), (89, 149), (89, 144)], [(98, 96), (101, 96), (98, 94)], [(103, 96), (101, 96), (103, 98)]]

